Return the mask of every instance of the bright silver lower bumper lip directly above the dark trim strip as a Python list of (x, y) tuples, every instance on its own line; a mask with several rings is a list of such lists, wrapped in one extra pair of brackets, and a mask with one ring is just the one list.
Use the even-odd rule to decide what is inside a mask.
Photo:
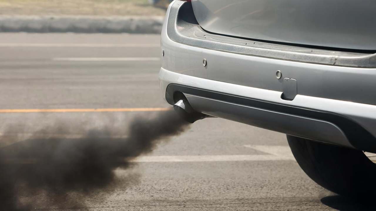
[[(376, 125), (376, 105), (318, 98), (305, 95), (296, 95), (293, 101), (288, 101), (280, 98), (282, 92), (193, 77), (190, 75), (168, 71), (164, 68), (161, 68), (161, 70), (159, 71), (159, 80), (162, 95), (164, 97), (165, 90), (168, 84), (177, 83), (185, 86), (229, 93), (232, 95), (261, 99), (286, 105), (293, 105), (296, 107), (333, 112), (352, 119), (376, 137), (376, 127), (374, 127), (374, 125)], [(216, 107), (212, 107), (213, 111), (215, 111), (216, 109)], [(241, 116), (238, 116), (238, 118), (241, 118)]]

